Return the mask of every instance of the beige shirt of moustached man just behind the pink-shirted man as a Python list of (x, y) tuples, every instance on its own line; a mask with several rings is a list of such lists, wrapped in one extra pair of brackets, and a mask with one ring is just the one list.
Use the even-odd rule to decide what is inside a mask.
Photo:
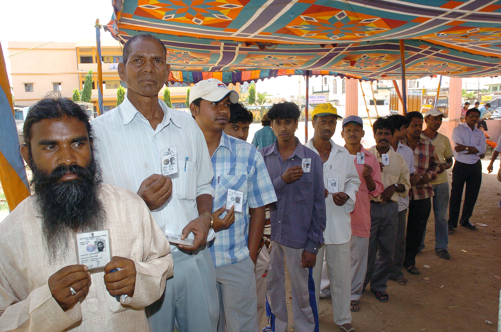
[[(369, 149), (369, 152), (374, 154), (379, 162), (382, 161), (381, 154), (376, 149), (376, 146), (373, 146)], [(383, 172), (381, 172), (381, 181), (383, 183), (384, 189), (388, 188), (392, 185), (402, 184), (405, 187), (405, 191), (401, 193), (394, 192), (391, 196), (391, 200), (393, 202), (398, 202), (398, 197), (405, 197), (409, 195), (410, 189), (410, 181), (409, 181), (409, 168), (407, 167), (407, 163), (405, 162), (404, 157), (393, 149), (388, 150), (389, 157), (389, 165), (385, 165), (383, 168)], [(372, 201), (381, 202), (381, 195), (378, 197), (371, 197)]]

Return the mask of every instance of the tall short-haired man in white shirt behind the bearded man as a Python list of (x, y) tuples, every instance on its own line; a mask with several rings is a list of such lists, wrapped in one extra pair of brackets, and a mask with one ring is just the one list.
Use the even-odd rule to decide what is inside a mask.
[[(207, 144), (193, 118), (158, 98), (169, 76), (162, 42), (148, 34), (131, 38), (118, 64), (127, 96), (92, 121), (103, 180), (137, 192), (165, 235), (192, 245), (171, 245), (174, 277), (146, 308), (153, 331), (215, 331), (219, 305), (214, 265), (205, 242), (212, 226), (213, 177)], [(173, 165), (165, 159), (175, 157)], [(169, 240), (171, 238), (169, 237)]]

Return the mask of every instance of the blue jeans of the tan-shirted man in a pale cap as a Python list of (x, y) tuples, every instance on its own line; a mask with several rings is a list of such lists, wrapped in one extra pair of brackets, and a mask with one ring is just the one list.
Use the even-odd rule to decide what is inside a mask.
[[(433, 193), (433, 215), (435, 216), (435, 250), (447, 250), (449, 233), (447, 230), (447, 208), (449, 206), (449, 183), (431, 186)], [(424, 248), (423, 242), (419, 250)]]

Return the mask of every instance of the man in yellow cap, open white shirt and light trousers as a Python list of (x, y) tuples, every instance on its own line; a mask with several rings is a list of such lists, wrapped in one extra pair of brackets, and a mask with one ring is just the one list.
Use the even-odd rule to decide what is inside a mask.
[(354, 331), (351, 324), (350, 298), (350, 212), (355, 207), (355, 195), (360, 186), (357, 169), (345, 147), (331, 139), (336, 130), (336, 121), (342, 118), (331, 103), (320, 104), (312, 113), (315, 135), (306, 144), (317, 152), (324, 162), (324, 186), (327, 224), (324, 245), (317, 254), (313, 268), (317, 307), (324, 254), (331, 286), (334, 322), (344, 331)]

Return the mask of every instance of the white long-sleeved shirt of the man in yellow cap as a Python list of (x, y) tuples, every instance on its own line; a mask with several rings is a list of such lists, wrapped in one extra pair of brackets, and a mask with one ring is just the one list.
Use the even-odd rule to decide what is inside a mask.
[[(328, 179), (338, 179), (338, 192), (348, 195), (348, 201), (343, 206), (334, 204), (332, 195), (325, 199), (327, 223), (324, 231), (325, 244), (342, 244), (351, 238), (350, 212), (355, 208), (355, 198), (360, 187), (360, 178), (350, 152), (339, 146), (331, 139), (331, 154), (324, 162), (324, 186), (327, 188)], [(313, 138), (305, 144), (319, 153), (313, 145)], [(320, 154), (319, 154), (320, 155)]]

